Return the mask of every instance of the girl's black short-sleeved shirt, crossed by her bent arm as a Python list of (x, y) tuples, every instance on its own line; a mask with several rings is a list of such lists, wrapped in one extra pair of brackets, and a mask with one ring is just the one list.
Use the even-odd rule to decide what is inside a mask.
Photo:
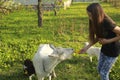
[[(106, 39), (111, 39), (116, 37), (116, 33), (113, 32), (113, 29), (116, 27), (116, 24), (112, 23), (110, 19), (105, 18), (102, 22), (102, 36)], [(109, 57), (117, 57), (119, 55), (120, 43), (119, 41), (112, 42), (109, 44), (102, 45), (101, 52)]]

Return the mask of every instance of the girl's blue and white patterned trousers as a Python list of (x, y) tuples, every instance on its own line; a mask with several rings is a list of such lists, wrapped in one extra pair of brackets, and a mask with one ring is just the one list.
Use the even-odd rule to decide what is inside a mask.
[(117, 57), (109, 57), (104, 55), (102, 52), (99, 56), (98, 61), (98, 72), (100, 74), (101, 80), (109, 80), (109, 71), (112, 65), (115, 63)]

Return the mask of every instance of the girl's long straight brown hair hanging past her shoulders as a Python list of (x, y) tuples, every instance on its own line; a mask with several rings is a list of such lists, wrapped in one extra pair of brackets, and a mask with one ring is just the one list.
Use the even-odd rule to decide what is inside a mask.
[(98, 38), (102, 38), (101, 23), (108, 16), (104, 13), (99, 3), (92, 3), (87, 7), (87, 11), (91, 13), (92, 20), (89, 19), (89, 40), (95, 43)]

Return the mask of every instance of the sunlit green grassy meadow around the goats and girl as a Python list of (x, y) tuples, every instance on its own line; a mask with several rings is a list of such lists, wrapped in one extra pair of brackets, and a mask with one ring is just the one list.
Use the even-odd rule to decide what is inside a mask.
[[(120, 8), (100, 3), (105, 12), (120, 25)], [(78, 51), (88, 41), (89, 3), (73, 3), (67, 10), (44, 11), (43, 26), (37, 26), (37, 11), (23, 8), (0, 19), (0, 80), (28, 80), (23, 74), (23, 60), (32, 59), (39, 44), (72, 47)], [(96, 44), (96, 46), (100, 46)], [(110, 73), (111, 80), (120, 80), (120, 58)], [(53, 80), (100, 80), (97, 73), (97, 58), (91, 63), (87, 54), (74, 54), (55, 68)], [(37, 80), (34, 77), (33, 80)], [(47, 79), (46, 79), (47, 80)]]

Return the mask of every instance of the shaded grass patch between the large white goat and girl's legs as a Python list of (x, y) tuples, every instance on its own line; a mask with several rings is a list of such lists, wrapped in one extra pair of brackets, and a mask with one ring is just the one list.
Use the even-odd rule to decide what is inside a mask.
[(91, 63), (88, 56), (73, 57), (59, 64), (55, 70), (60, 80), (99, 80), (96, 63), (96, 59)]

